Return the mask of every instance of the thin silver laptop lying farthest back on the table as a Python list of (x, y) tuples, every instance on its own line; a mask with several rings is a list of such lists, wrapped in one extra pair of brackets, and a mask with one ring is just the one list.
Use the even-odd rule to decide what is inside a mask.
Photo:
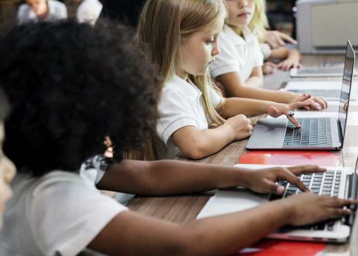
[[(353, 75), (357, 76), (357, 71), (353, 71)], [(306, 68), (292, 68), (290, 69), (291, 77), (341, 77), (341, 67), (306, 67)]]

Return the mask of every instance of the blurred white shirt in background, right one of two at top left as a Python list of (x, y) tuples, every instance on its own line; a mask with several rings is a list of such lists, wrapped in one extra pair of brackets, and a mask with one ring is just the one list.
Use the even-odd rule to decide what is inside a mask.
[(97, 21), (103, 5), (98, 0), (84, 0), (77, 9), (77, 20), (91, 25)]

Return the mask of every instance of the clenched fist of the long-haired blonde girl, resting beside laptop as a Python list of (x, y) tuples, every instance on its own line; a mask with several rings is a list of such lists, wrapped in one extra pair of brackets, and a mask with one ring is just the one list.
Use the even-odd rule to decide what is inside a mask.
[(227, 125), (232, 129), (234, 140), (247, 138), (253, 131), (250, 119), (244, 115), (237, 115), (229, 118), (224, 125)]

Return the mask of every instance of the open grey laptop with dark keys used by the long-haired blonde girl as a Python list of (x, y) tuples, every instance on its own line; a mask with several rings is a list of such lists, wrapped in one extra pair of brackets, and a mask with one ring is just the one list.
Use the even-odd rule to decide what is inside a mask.
[(339, 150), (343, 146), (356, 55), (347, 42), (343, 83), (337, 118), (296, 118), (296, 128), (283, 118), (261, 119), (246, 145), (251, 150)]

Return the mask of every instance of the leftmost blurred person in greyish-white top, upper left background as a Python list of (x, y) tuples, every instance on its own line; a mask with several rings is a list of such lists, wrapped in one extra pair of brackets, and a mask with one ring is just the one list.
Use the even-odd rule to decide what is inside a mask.
[(17, 11), (17, 22), (36, 22), (67, 18), (66, 5), (57, 0), (26, 0)]

